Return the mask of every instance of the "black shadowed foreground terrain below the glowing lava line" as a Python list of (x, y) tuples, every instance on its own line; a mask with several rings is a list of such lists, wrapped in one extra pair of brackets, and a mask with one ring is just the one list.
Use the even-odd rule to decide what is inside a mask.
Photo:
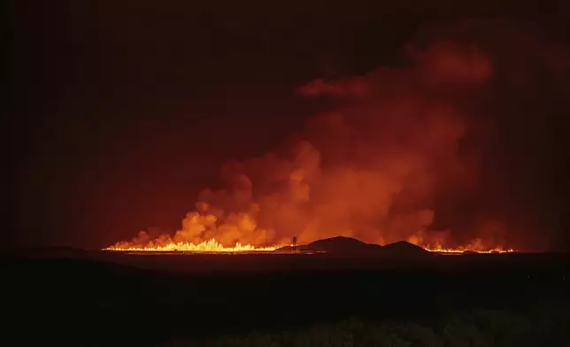
[(10, 254), (4, 329), (11, 345), (567, 345), (567, 260)]

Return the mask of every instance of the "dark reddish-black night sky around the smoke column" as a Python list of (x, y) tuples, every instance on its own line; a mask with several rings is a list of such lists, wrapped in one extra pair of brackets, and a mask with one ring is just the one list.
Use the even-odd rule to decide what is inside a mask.
[[(567, 40), (568, 5), (537, 6), (10, 2), (5, 128), (16, 224), (6, 244), (93, 248), (147, 227), (178, 227), (223, 162), (273, 149), (320, 108), (297, 96), (298, 86), (394, 64), (433, 23), (508, 18)], [(556, 167), (549, 177), (565, 181), (566, 166)], [(568, 190), (560, 187), (540, 190), (552, 204), (544, 211), (564, 211)], [(563, 229), (553, 242), (566, 242)]]

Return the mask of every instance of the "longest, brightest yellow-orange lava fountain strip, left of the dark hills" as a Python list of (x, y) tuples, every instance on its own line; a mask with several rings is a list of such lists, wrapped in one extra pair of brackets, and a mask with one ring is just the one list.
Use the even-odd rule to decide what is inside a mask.
[(133, 247), (128, 243), (115, 244), (104, 249), (104, 251), (192, 251), (192, 252), (240, 252), (240, 251), (275, 251), (277, 247), (255, 247), (250, 243), (235, 243), (233, 247), (224, 247), (216, 241), (204, 241), (202, 243), (166, 243), (164, 245), (147, 245), (144, 247)]

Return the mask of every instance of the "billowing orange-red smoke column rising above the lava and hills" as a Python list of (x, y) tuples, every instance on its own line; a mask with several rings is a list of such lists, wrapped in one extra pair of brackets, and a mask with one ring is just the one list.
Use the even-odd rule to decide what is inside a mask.
[[(325, 98), (329, 110), (280, 150), (227, 162), (226, 189), (204, 189), (172, 237), (142, 232), (118, 246), (212, 238), (225, 246), (272, 245), (294, 235), (299, 243), (346, 235), (475, 250), (524, 244), (516, 232), (524, 235), (528, 220), (502, 208), (511, 202), (509, 191), (497, 175), (489, 179), (500, 126), (494, 117), (525, 102), (528, 95), (503, 97), (513, 86), (531, 90), (525, 64), (552, 56), (542, 46), (532, 59), (522, 50), (512, 54), (518, 44), (528, 55), (528, 42), (513, 44), (505, 30), (488, 30), (481, 40), (474, 28), (424, 37), (406, 50), (404, 66), (302, 86), (300, 95)], [(502, 45), (519, 59), (505, 64)], [(558, 64), (558, 72), (566, 67)]]

